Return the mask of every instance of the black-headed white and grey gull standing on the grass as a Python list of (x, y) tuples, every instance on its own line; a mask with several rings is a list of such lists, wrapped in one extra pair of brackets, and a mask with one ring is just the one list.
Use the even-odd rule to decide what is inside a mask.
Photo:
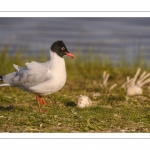
[(46, 105), (44, 96), (59, 91), (65, 85), (67, 75), (63, 56), (74, 58), (63, 41), (54, 42), (49, 53), (50, 60), (47, 62), (31, 61), (25, 63), (26, 67), (14, 64), (16, 72), (0, 76), (0, 80), (3, 81), (0, 86), (15, 86), (34, 93), (40, 112), (43, 112), (40, 103)]

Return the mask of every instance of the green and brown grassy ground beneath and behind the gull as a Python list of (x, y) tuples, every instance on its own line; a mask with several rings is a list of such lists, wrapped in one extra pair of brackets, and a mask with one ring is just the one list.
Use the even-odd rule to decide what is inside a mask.
[[(57, 93), (46, 96), (47, 113), (39, 113), (35, 95), (16, 87), (0, 87), (0, 132), (150, 132), (150, 92), (144, 87), (142, 96), (126, 97), (121, 85), (126, 76), (133, 76), (138, 67), (149, 71), (140, 59), (128, 64), (125, 59), (114, 65), (101, 55), (66, 59), (68, 79)], [(23, 57), (22, 53), (9, 56), (7, 47), (0, 54), (0, 74), (14, 71), (12, 64), (24, 66), (35, 60), (44, 62), (44, 55)], [(103, 71), (110, 74), (108, 87), (118, 86), (108, 92), (100, 88)], [(99, 93), (99, 96), (94, 96)], [(92, 106), (80, 109), (76, 106), (80, 94), (92, 100)]]

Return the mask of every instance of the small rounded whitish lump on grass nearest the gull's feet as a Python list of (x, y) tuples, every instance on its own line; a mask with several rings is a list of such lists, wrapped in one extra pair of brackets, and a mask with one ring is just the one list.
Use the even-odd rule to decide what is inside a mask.
[(78, 98), (78, 104), (77, 104), (79, 108), (84, 108), (84, 107), (88, 107), (91, 105), (92, 105), (92, 101), (90, 100), (89, 97), (85, 95), (80, 95), (80, 97)]

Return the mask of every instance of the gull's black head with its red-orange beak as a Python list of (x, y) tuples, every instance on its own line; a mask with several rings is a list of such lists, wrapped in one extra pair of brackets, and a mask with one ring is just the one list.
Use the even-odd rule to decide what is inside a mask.
[(60, 57), (63, 57), (64, 55), (68, 55), (74, 58), (74, 55), (67, 50), (67, 47), (63, 41), (54, 42), (50, 47), (50, 49), (51, 51), (57, 53)]

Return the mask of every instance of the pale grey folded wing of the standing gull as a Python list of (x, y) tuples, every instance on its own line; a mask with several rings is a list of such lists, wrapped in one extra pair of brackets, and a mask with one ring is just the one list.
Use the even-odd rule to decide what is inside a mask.
[[(47, 66), (37, 62), (26, 63), (26, 66), (26, 68), (22, 68), (14, 65), (17, 72), (12, 73), (14, 77), (11, 85), (28, 90), (29, 87), (49, 80), (51, 77), (51, 71)], [(11, 74), (8, 74), (6, 77), (9, 77), (10, 75)]]

